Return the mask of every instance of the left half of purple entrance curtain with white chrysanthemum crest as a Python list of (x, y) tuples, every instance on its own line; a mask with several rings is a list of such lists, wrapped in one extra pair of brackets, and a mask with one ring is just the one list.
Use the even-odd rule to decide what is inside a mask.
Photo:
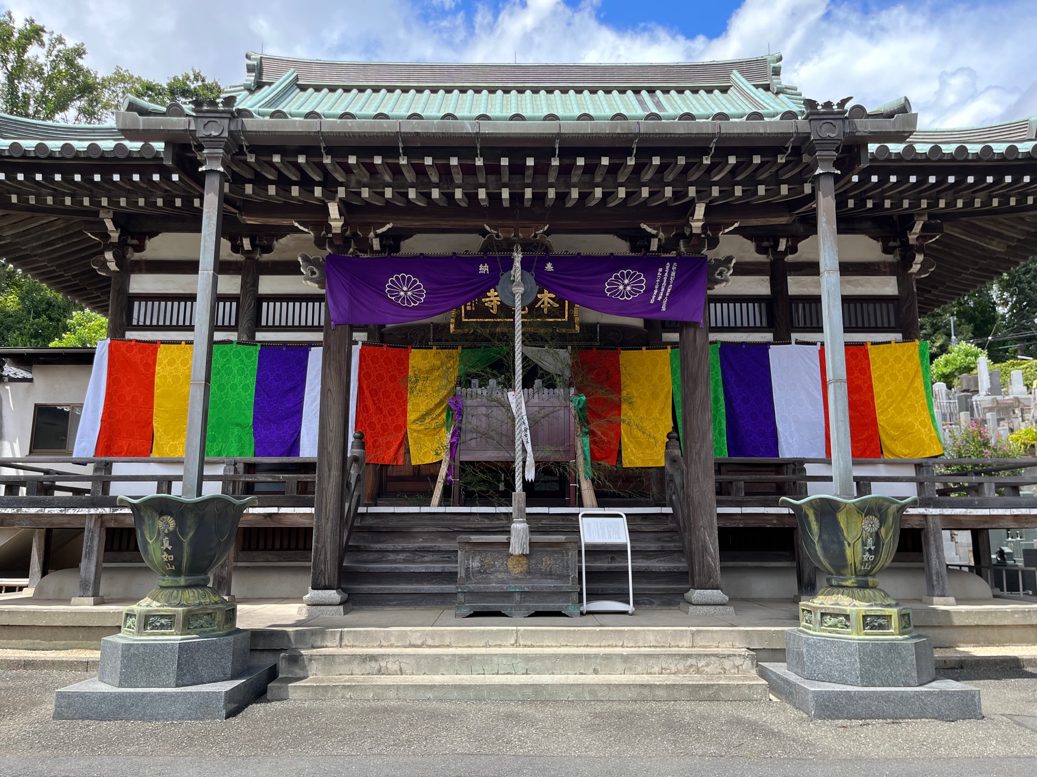
[(509, 269), (511, 257), (332, 254), (325, 260), (328, 310), (337, 324), (418, 321), (467, 305)]

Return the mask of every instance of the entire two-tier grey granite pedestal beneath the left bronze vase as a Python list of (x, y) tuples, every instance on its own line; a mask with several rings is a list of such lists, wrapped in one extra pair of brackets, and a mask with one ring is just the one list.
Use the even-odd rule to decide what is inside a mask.
[(223, 720), (267, 691), (276, 664), (249, 664), (251, 635), (101, 640), (97, 678), (61, 688), (55, 720)]

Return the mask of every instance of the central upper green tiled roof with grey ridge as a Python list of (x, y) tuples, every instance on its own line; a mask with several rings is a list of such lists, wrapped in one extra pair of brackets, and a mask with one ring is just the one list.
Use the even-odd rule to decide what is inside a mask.
[(326, 62), (247, 55), (228, 87), (257, 118), (466, 121), (797, 118), (781, 55), (662, 64)]

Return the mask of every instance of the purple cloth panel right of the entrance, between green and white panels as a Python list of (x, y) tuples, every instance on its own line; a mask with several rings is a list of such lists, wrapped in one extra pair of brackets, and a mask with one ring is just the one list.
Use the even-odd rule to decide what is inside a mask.
[(728, 456), (778, 456), (767, 345), (721, 343)]

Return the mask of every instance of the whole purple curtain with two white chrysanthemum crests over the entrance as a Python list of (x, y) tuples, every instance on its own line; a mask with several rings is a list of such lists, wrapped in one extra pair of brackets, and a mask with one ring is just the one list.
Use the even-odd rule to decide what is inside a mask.
[[(702, 321), (704, 256), (530, 256), (523, 268), (562, 299), (617, 316)], [(325, 262), (336, 324), (403, 323), (472, 301), (511, 269), (509, 256), (356, 257)]]

